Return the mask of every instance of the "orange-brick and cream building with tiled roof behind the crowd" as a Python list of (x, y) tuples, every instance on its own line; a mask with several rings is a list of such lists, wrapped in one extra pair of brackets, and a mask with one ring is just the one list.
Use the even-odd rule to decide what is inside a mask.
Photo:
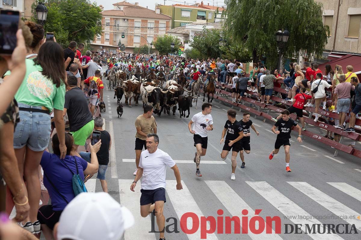
[[(171, 17), (160, 13), (160, 9), (154, 11), (126, 1), (113, 6), (113, 10), (101, 12), (103, 33), (91, 42), (94, 51), (105, 48), (115, 52), (120, 40), (126, 47), (125, 51), (133, 52), (134, 47), (149, 46), (158, 36), (170, 30)], [(125, 38), (122, 38), (122, 32)]]

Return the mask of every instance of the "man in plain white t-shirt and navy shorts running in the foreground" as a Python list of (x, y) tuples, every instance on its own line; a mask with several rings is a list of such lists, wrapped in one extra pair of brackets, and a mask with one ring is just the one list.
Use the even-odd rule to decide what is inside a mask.
[(168, 153), (158, 148), (159, 137), (155, 133), (147, 135), (147, 150), (140, 154), (139, 169), (136, 173), (134, 182), (130, 186), (130, 190), (134, 192), (136, 182), (142, 177), (140, 192), (140, 215), (147, 217), (152, 213), (157, 218), (157, 225), (159, 229), (159, 240), (164, 238), (165, 217), (163, 215), (165, 198), (165, 173), (166, 168), (170, 167), (174, 171), (174, 176), (177, 180), (177, 190), (182, 190), (181, 173), (175, 164), (174, 160)]

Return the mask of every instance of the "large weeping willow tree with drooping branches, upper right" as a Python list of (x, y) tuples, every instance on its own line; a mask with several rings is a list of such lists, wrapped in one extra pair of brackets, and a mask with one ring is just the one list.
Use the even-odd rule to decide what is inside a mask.
[(327, 43), (329, 27), (322, 22), (322, 5), (314, 0), (225, 0), (225, 4), (222, 15), (232, 16), (225, 20), (225, 31), (251, 51), (253, 61), (264, 56), (269, 65), (277, 65), (279, 29), (290, 32), (284, 57), (321, 55)]

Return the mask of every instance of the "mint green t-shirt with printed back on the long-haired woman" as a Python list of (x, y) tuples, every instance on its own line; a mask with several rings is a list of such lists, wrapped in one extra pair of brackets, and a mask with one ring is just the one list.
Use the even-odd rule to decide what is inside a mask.
[[(15, 99), (18, 103), (30, 106), (44, 106), (51, 112), (54, 109), (63, 110), (65, 102), (65, 84), (56, 87), (53, 81), (43, 76), (43, 68), (35, 65), (34, 60), (25, 59), (26, 73)], [(10, 71), (4, 76), (10, 75)]]

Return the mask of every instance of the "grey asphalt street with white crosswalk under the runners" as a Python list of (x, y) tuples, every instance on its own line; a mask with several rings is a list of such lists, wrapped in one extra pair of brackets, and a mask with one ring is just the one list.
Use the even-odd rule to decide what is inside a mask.
[[(132, 108), (124, 104), (122, 117), (117, 118), (117, 102), (114, 97), (114, 90), (108, 90), (108, 80), (104, 80), (104, 102), (106, 112), (101, 113), (105, 119), (105, 129), (112, 136), (112, 148), (110, 150), (110, 161), (106, 172), (109, 194), (121, 204), (131, 210), (135, 217), (135, 226), (125, 232), (125, 240), (142, 239), (155, 240), (159, 238), (158, 233), (152, 230), (151, 217), (140, 216), (140, 181), (136, 185), (135, 193), (130, 191), (130, 185), (134, 181), (135, 166), (135, 126), (137, 116), (143, 113), (142, 100), (139, 105), (132, 104)], [(272, 122), (263, 119), (251, 120), (260, 135), (251, 132), (251, 153), (245, 155), (245, 168), (240, 168), (241, 160), (237, 157), (236, 180), (231, 181), (231, 159), (229, 154), (225, 162), (222, 161), (220, 153), (222, 145), (219, 144), (229, 107), (218, 100), (213, 101), (212, 117), (214, 131), (208, 133), (208, 149), (205, 157), (201, 157), (200, 171), (203, 177), (196, 177), (196, 166), (193, 163), (195, 147), (193, 136), (188, 131), (187, 124), (193, 114), (201, 111), (201, 99), (199, 98), (198, 109), (191, 108), (189, 118), (179, 119), (179, 111), (176, 116), (162, 114), (161, 117), (153, 115), (157, 121), (157, 134), (160, 138), (158, 148), (167, 152), (177, 163), (181, 172), (183, 190), (176, 190), (176, 181), (171, 169), (167, 170), (166, 199), (164, 216), (166, 226), (170, 231), (174, 230), (174, 222), (179, 233), (165, 233), (167, 240), (196, 240), (201, 239), (201, 222), (194, 234), (185, 234), (180, 225), (180, 219), (184, 213), (192, 212), (198, 216), (213, 216), (223, 221), (223, 230), (217, 225), (216, 233), (207, 234), (207, 239), (360, 239), (357, 231), (361, 231), (361, 163), (360, 159), (349, 154), (339, 152), (338, 157), (333, 157), (334, 149), (325, 146), (317, 141), (303, 137), (303, 143), (296, 141), (297, 134), (291, 133), (290, 167), (291, 173), (285, 171), (284, 151), (280, 149), (279, 154), (273, 160), (268, 155), (274, 148), (276, 139), (271, 132)], [(124, 103), (122, 98), (121, 102)], [(239, 110), (238, 108), (235, 108)], [(238, 112), (237, 120), (242, 119), (243, 111)], [(358, 143), (357, 143), (358, 145)], [(86, 182), (88, 191), (101, 191), (99, 180), (96, 175)], [(217, 210), (222, 209), (223, 214)], [(243, 214), (242, 210), (247, 209), (248, 213)], [(259, 216), (266, 220), (267, 216), (279, 216), (281, 221), (281, 233), (275, 234), (275, 223), (273, 223), (272, 234), (254, 234), (251, 230), (250, 219), (255, 216), (255, 210), (261, 209)], [(225, 234), (225, 218), (248, 216), (248, 234)], [(286, 219), (286, 216), (298, 216), (297, 219)], [(343, 219), (337, 219), (340, 216)], [(346, 218), (347, 217), (347, 218)], [(358, 218), (357, 218), (358, 217)], [(167, 222), (168, 218), (169, 222)], [(317, 219), (316, 219), (317, 218)], [(174, 220), (175, 219), (175, 220)], [(218, 222), (218, 219), (217, 219)], [(254, 222), (253, 222), (254, 223)], [(194, 223), (193, 223), (194, 224)], [(218, 222), (219, 224), (219, 222)], [(291, 231), (291, 225), (302, 224), (344, 224), (339, 231), (346, 231), (345, 225), (349, 224), (347, 232), (351, 234), (322, 234), (323, 227), (315, 234), (286, 233)], [(222, 224), (221, 224), (222, 225)], [(352, 225), (354, 225), (352, 230)], [(193, 225), (194, 226), (194, 225)], [(242, 223), (241, 223), (242, 227)], [(188, 229), (192, 228), (191, 218), (188, 218)], [(254, 227), (253, 227), (254, 228)], [(207, 226), (209, 229), (209, 225)], [(258, 222), (256, 223), (258, 229)], [(155, 230), (158, 227), (155, 222)], [(219, 233), (217, 233), (217, 231)], [(223, 233), (222, 233), (223, 232)], [(327, 228), (326, 228), (327, 233)]]

